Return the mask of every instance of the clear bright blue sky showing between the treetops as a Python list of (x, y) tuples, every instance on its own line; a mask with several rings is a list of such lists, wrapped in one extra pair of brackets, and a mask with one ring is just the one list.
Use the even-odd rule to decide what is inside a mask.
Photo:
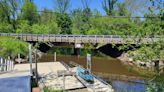
[[(122, 1), (122, 0), (120, 0)], [(37, 8), (39, 10), (43, 10), (43, 8), (48, 8), (48, 9), (54, 9), (54, 0), (34, 0), (34, 3), (37, 5)], [(90, 3), (90, 8), (92, 10), (97, 9), (100, 11), (103, 15), (105, 15), (104, 10), (102, 9), (102, 0), (92, 0)], [(81, 0), (71, 0), (71, 7), (70, 10), (72, 9), (77, 9), (77, 8), (82, 8), (82, 2)]]

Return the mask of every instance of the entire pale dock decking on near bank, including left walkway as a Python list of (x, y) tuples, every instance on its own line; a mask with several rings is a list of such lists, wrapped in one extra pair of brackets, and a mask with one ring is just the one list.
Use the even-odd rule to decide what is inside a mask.
[[(32, 66), (32, 68), (35, 69), (34, 63)], [(93, 84), (86, 82), (80, 76), (76, 75), (76, 67), (70, 68), (63, 62), (38, 63), (37, 67), (39, 87), (41, 89), (50, 87), (56, 90), (68, 90), (69, 92), (114, 92), (111, 85), (95, 75), (93, 75)], [(31, 76), (29, 64), (17, 64), (14, 67), (13, 73), (4, 74), (1, 77), (24, 75)]]

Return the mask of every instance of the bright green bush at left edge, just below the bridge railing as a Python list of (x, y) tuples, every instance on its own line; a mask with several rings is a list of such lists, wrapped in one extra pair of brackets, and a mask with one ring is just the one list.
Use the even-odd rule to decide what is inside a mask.
[(18, 54), (28, 55), (28, 43), (15, 38), (0, 37), (0, 56), (15, 58)]

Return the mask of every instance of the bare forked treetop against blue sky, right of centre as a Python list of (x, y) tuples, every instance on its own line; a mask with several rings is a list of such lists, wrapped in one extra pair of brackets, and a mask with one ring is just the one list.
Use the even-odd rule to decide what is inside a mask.
[(102, 7), (103, 7), (104, 11), (106, 12), (106, 15), (108, 15), (108, 16), (115, 15), (114, 8), (115, 8), (117, 1), (118, 0), (103, 0)]

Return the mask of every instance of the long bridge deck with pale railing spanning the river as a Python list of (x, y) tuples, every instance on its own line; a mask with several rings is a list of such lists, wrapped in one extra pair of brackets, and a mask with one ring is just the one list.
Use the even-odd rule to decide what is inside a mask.
[(66, 43), (153, 43), (155, 41), (162, 40), (160, 37), (136, 37), (136, 36), (119, 36), (119, 35), (55, 35), (55, 34), (10, 34), (0, 33), (0, 36), (16, 37), (23, 41), (34, 42), (66, 42)]

